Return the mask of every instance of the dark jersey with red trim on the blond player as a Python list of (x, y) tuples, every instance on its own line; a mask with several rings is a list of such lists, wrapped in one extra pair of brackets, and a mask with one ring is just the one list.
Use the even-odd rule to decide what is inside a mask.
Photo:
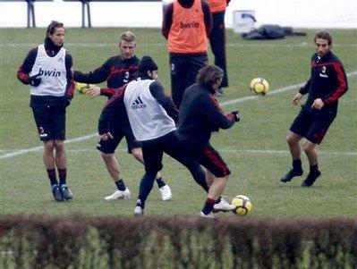
[(135, 55), (128, 60), (123, 60), (120, 55), (115, 55), (89, 73), (74, 71), (74, 80), (92, 84), (106, 81), (107, 88), (102, 88), (101, 94), (111, 97), (115, 93), (115, 88), (121, 88), (135, 78), (139, 62), (140, 59)]

